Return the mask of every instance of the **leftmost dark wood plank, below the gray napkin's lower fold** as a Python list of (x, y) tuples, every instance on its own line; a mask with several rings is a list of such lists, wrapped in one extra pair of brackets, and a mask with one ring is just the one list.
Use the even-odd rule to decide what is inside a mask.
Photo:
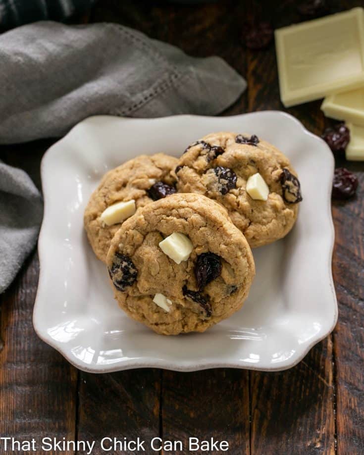
[(42, 438), (75, 437), (77, 370), (34, 332), (38, 275), (33, 252), (1, 298), (0, 435), (21, 441), (35, 438), (38, 450), (32, 453), (44, 454)]

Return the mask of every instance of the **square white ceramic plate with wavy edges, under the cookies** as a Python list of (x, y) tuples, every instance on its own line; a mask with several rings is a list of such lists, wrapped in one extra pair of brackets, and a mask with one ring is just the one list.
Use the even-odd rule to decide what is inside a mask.
[[(254, 250), (257, 275), (239, 312), (203, 334), (156, 335), (114, 301), (105, 266), (88, 245), (83, 211), (108, 169), (140, 153), (179, 156), (194, 140), (222, 130), (257, 134), (289, 156), (304, 198), (298, 221), (284, 240)], [(333, 168), (326, 144), (282, 112), (82, 121), (42, 161), (45, 213), (36, 332), (76, 367), (92, 372), (295, 365), (337, 319), (331, 274)]]

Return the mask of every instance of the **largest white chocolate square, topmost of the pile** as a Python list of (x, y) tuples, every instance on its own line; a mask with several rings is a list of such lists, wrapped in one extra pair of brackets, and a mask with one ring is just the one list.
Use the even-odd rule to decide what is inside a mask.
[(275, 31), (281, 100), (288, 107), (364, 86), (364, 10)]

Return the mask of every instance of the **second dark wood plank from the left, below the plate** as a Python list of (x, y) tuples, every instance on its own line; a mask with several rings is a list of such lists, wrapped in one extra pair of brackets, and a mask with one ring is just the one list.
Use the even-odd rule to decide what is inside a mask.
[[(137, 369), (110, 374), (81, 373), (79, 387), (79, 441), (98, 441), (95, 455), (105, 454), (103, 438), (146, 441), (147, 454), (153, 453), (150, 441), (159, 437), (161, 370)], [(104, 441), (104, 448), (110, 440)], [(141, 451), (140, 451), (141, 452)], [(110, 453), (117, 453), (111, 451)], [(126, 454), (134, 454), (133, 447)]]

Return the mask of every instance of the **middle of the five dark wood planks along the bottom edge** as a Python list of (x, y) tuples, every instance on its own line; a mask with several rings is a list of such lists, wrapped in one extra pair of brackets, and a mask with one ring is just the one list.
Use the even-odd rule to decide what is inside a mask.
[(164, 440), (182, 441), (184, 454), (190, 453), (189, 438), (227, 441), (231, 455), (250, 453), (248, 371), (164, 371), (162, 391)]

